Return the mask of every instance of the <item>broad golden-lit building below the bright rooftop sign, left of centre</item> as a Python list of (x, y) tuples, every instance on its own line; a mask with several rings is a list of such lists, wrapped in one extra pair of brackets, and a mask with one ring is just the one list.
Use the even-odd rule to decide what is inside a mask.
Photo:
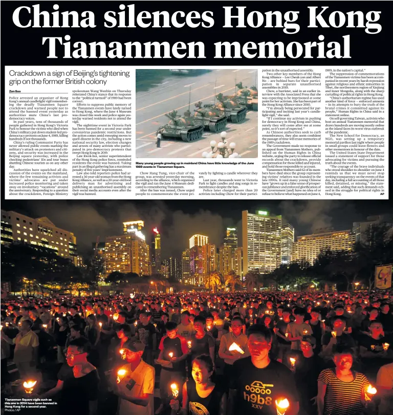
[(148, 275), (149, 246), (140, 231), (105, 238), (105, 274), (114, 271)]

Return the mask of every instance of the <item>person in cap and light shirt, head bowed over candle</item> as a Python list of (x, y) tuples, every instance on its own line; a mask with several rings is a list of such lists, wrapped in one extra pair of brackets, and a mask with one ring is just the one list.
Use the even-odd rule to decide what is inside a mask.
[(155, 369), (142, 360), (145, 344), (139, 340), (124, 344), (126, 364), (119, 367), (125, 370), (117, 383), (116, 371), (111, 387), (119, 400), (117, 415), (152, 415), (154, 412)]

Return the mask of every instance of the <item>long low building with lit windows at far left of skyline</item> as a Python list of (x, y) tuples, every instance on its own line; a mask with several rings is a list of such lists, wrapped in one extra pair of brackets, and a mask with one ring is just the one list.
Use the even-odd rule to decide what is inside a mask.
[(77, 264), (76, 237), (73, 232), (58, 228), (46, 216), (33, 219), (12, 210), (2, 210), (1, 214), (2, 244), (25, 242), (48, 248)]

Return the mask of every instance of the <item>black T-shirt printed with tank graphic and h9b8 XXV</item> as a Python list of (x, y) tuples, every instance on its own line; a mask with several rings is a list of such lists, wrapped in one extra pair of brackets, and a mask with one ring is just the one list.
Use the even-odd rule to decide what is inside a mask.
[(275, 360), (258, 369), (251, 356), (233, 363), (230, 388), (236, 389), (235, 413), (276, 415), (276, 399), (298, 402), (295, 379), (291, 370)]

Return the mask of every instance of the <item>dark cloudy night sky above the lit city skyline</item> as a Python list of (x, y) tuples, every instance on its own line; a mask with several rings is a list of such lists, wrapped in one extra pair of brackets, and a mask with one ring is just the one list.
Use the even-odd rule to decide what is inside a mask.
[(283, 224), (289, 222), (295, 227), (295, 236), (324, 227), (351, 229), (353, 222), (365, 221), (367, 216), (392, 213), (389, 201), (369, 200), (4, 201), (2, 209), (34, 218), (48, 216), (55, 226), (74, 232), (81, 255), (89, 253), (98, 235), (104, 242), (105, 236), (123, 233), (123, 222), (141, 219), (145, 221), (147, 243), (151, 230), (158, 227), (163, 259), (180, 257), (195, 233), (209, 236), (209, 242), (219, 246), (226, 227), (238, 228), (241, 246), (242, 210), (281, 214)]

